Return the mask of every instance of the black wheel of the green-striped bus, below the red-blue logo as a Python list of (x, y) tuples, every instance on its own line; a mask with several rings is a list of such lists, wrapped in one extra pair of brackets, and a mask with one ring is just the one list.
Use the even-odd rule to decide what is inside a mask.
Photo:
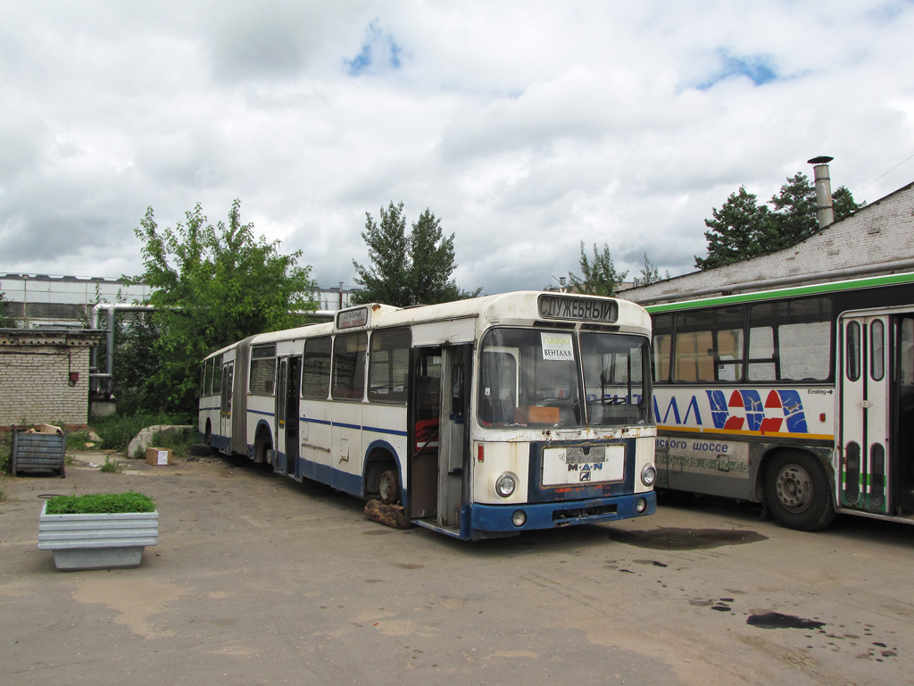
[(779, 453), (765, 470), (765, 504), (783, 526), (819, 531), (834, 520), (834, 502), (824, 467), (800, 451)]

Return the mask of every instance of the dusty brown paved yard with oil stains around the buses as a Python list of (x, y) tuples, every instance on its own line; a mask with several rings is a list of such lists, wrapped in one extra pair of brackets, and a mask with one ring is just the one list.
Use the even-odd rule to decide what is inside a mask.
[[(467, 543), (245, 461), (122, 461), (3, 478), (0, 683), (912, 682), (914, 528), (807, 534), (661, 498), (642, 520)], [(125, 490), (160, 511), (139, 567), (58, 572), (37, 550), (42, 498)]]

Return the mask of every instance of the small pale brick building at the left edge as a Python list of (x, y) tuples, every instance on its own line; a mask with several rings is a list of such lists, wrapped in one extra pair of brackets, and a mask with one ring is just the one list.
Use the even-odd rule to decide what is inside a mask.
[(90, 330), (0, 329), (0, 426), (89, 421)]

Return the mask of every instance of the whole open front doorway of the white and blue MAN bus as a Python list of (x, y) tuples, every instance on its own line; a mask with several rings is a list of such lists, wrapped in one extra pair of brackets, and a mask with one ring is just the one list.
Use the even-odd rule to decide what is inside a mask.
[(472, 347), (417, 348), (409, 401), (410, 520), (459, 531), (470, 492)]

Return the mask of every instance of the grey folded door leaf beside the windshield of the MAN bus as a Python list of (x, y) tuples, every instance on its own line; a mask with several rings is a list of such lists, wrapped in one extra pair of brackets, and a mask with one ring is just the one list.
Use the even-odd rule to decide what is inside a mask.
[(470, 445), (466, 426), (468, 384), (473, 378), (471, 346), (441, 349), (441, 412), (438, 447), (437, 524), (460, 526), (464, 496), (469, 489)]

